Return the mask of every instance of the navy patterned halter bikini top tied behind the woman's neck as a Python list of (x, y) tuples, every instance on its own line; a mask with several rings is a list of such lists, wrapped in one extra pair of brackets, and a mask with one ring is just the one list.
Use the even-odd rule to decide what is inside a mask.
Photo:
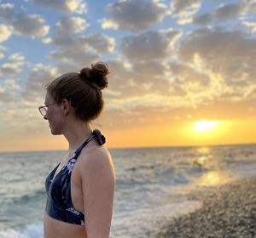
[(59, 163), (46, 178), (45, 189), (47, 192), (47, 202), (45, 212), (49, 217), (68, 224), (85, 224), (84, 213), (77, 211), (73, 207), (71, 199), (71, 173), (84, 146), (92, 139), (96, 139), (97, 143), (100, 145), (105, 143), (105, 137), (102, 133), (99, 130), (94, 130), (90, 138), (86, 139), (84, 143), (79, 146), (79, 149), (74, 152), (73, 156), (69, 159), (67, 164), (62, 167), (61, 171), (56, 174), (55, 178), (55, 172), (61, 163)]

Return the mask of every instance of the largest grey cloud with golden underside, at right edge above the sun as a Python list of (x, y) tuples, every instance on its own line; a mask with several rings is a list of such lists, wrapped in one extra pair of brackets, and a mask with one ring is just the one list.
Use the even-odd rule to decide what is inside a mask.
[(256, 52), (253, 48), (256, 48), (256, 39), (241, 31), (201, 29), (181, 43), (179, 56), (183, 62), (207, 75), (209, 88), (216, 91), (214, 97), (222, 98), (237, 90), (246, 94), (247, 88), (254, 83)]

